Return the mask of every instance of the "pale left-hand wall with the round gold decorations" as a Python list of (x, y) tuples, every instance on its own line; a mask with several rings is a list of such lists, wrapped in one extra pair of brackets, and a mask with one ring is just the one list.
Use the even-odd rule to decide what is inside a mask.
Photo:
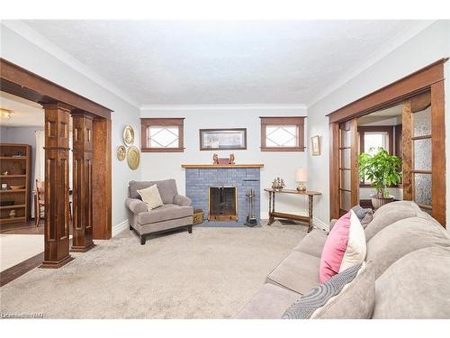
[(4, 24), (1, 24), (0, 28), (2, 58), (114, 111), (112, 113), (112, 228), (114, 229), (114, 226), (122, 224), (128, 218), (124, 206), (128, 181), (140, 178), (140, 169), (135, 171), (129, 169), (126, 161), (119, 162), (115, 156), (117, 147), (122, 144), (121, 132), (126, 124), (133, 126), (135, 145), (139, 146), (139, 109), (69, 66), (67, 60), (58, 59), (55, 53), (50, 54), (38, 47), (38, 40), (41, 42), (41, 39), (34, 41), (25, 39), (23, 34), (14, 32)]

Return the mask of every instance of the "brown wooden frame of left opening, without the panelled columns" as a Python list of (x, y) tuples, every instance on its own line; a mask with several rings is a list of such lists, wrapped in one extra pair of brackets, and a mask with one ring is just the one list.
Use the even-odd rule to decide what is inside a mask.
[(94, 115), (94, 239), (110, 239), (112, 237), (112, 109), (2, 58), (0, 58), (0, 86), (4, 92), (40, 105), (59, 103), (71, 110)]

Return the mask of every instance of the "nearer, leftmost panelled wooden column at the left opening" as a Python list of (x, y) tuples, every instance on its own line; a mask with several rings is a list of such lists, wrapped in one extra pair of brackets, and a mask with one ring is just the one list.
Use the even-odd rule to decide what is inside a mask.
[(43, 105), (45, 109), (45, 233), (41, 268), (60, 268), (69, 255), (68, 138), (70, 109)]

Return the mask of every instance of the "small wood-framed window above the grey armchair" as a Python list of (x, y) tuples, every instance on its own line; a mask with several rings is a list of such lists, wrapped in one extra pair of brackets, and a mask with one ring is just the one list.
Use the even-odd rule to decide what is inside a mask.
[(142, 118), (143, 152), (184, 151), (184, 118)]

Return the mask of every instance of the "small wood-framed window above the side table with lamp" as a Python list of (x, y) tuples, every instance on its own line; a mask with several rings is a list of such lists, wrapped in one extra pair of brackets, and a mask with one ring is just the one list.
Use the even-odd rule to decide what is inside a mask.
[(261, 117), (261, 151), (304, 151), (304, 117)]

